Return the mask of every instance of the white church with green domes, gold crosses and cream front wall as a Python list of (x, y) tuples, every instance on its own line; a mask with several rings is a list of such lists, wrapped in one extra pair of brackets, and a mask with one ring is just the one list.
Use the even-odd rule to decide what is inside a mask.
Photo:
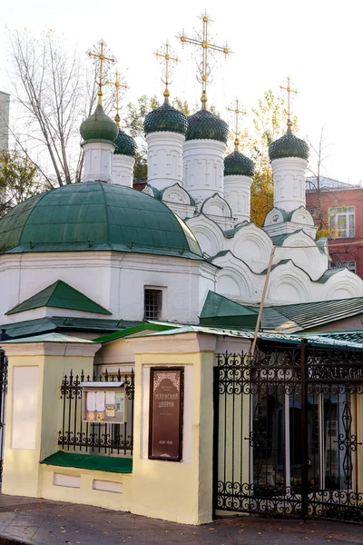
[[(205, 16), (205, 33), (207, 23)], [(206, 39), (203, 43), (208, 49)], [(102, 68), (103, 49), (97, 55)], [(233, 405), (220, 400), (225, 414), (232, 407), (233, 416), (224, 422), (224, 441), (218, 440), (222, 416), (213, 401), (213, 368), (221, 368), (220, 393), (221, 377), (231, 379), (233, 370), (236, 393), (237, 376), (241, 384), (250, 381), (243, 379), (244, 357), (236, 363), (236, 354), (253, 356), (257, 336), (260, 342), (285, 343), (283, 352), (279, 348), (285, 359), (287, 345), (294, 347), (292, 358), (304, 342), (309, 350), (360, 351), (360, 338), (340, 338), (330, 329), (344, 320), (342, 330), (361, 329), (356, 323), (363, 314), (363, 281), (347, 269), (329, 269), (327, 240), (316, 240), (306, 208), (309, 147), (293, 134), (289, 119), (286, 133), (270, 145), (273, 208), (262, 228), (250, 222), (254, 164), (240, 151), (237, 129), (234, 151), (226, 154), (229, 127), (207, 108), (206, 63), (203, 70), (199, 112), (187, 118), (172, 107), (166, 77), (162, 106), (146, 115), (148, 182), (142, 192), (132, 189), (136, 144), (120, 128), (118, 111), (115, 121), (104, 113), (100, 78), (98, 104), (80, 127), (83, 182), (35, 195), (0, 220), (1, 346), (9, 362), (5, 493), (200, 524), (216, 512), (215, 472), (231, 473), (233, 481), (237, 465), (240, 486), (251, 479), (249, 490), (262, 490), (258, 504), (265, 510), (271, 507), (266, 490), (294, 486), (295, 499), (289, 496), (284, 509), (299, 512), (301, 482), (330, 487), (331, 498), (344, 488), (344, 479), (353, 488), (361, 459), (351, 445), (360, 444), (362, 405), (347, 401), (353, 389), (339, 391), (334, 400), (330, 396), (327, 409), (316, 390), (303, 406), (299, 391), (291, 393), (290, 381), (300, 377), (292, 363), (294, 371), (283, 374), (282, 397), (260, 391), (257, 416), (247, 387)], [(328, 332), (319, 335), (324, 328)], [(312, 330), (308, 341), (294, 336), (305, 330)], [(234, 356), (223, 360), (223, 353)], [(359, 372), (350, 374), (351, 380), (353, 375), (360, 380)], [(270, 380), (277, 376), (272, 373)], [(355, 434), (349, 428), (341, 445), (355, 454), (347, 466), (324, 438), (334, 422), (334, 430), (345, 425), (342, 408), (347, 411), (350, 402)], [(170, 428), (154, 425), (166, 418), (161, 409), (171, 411)], [(317, 460), (309, 475), (301, 469), (307, 464), (293, 460), (300, 455), (299, 443), (292, 448), (285, 442), (285, 431), (308, 417), (315, 443), (317, 427), (322, 441), (309, 454)], [(252, 445), (253, 426), (261, 419), (274, 444), (270, 450)], [(253, 428), (243, 432), (252, 434), (250, 442), (243, 442), (242, 424)], [(226, 449), (239, 437), (231, 456), (221, 451), (222, 443)], [(334, 478), (323, 475), (328, 451), (335, 457)], [(263, 479), (256, 452), (266, 458)], [(215, 470), (217, 457), (224, 469)], [(360, 473), (357, 479), (359, 491)], [(233, 510), (248, 496), (255, 509), (253, 493), (234, 497), (228, 482), (220, 490), (219, 508)], [(323, 512), (319, 490), (317, 513)], [(359, 505), (354, 508), (360, 513)]]

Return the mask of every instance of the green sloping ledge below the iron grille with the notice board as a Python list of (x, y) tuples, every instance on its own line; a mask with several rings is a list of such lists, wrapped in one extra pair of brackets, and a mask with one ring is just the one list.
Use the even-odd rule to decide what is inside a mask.
[(63, 468), (132, 473), (132, 458), (114, 458), (113, 456), (93, 456), (93, 454), (74, 454), (73, 452), (58, 451), (40, 463)]

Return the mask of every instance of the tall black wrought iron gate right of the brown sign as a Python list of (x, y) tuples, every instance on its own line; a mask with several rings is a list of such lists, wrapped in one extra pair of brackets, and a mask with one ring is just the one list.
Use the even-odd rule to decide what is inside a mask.
[(363, 352), (219, 354), (214, 511), (363, 522)]

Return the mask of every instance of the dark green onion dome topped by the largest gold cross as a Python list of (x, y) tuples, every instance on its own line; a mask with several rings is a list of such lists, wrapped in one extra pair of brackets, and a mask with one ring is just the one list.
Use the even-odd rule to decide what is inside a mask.
[(226, 144), (228, 134), (228, 124), (208, 110), (202, 109), (188, 117), (185, 140), (218, 140)]

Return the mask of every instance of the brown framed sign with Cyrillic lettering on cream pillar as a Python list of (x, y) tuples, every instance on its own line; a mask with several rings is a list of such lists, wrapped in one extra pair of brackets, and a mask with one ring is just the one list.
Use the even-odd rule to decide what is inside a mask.
[(182, 460), (182, 367), (154, 367), (150, 376), (149, 458)]

